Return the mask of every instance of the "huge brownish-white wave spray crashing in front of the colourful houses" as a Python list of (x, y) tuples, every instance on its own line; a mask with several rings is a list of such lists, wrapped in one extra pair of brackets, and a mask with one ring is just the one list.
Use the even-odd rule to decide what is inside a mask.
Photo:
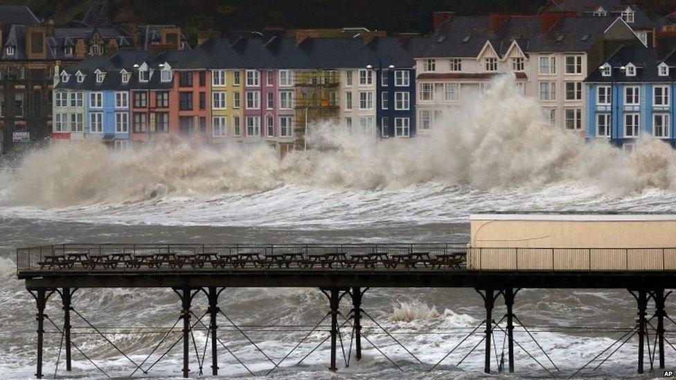
[(213, 197), (297, 185), (396, 190), (424, 183), (493, 188), (576, 183), (627, 194), (676, 188), (676, 153), (641, 138), (626, 153), (551, 127), (537, 100), (508, 77), (482, 98), (447, 111), (429, 136), (376, 140), (317, 125), (312, 150), (279, 159), (263, 143), (145, 145), (114, 151), (100, 143), (56, 143), (25, 157), (4, 185), (15, 206), (60, 208), (164, 197)]

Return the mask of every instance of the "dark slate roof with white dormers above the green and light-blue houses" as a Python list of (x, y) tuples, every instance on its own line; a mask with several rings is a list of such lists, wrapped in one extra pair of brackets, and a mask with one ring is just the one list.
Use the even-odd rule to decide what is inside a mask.
[[(143, 63), (148, 64), (150, 68), (150, 80), (148, 82), (139, 82), (139, 69), (134, 67), (134, 64), (141, 66)], [(100, 69), (106, 73), (103, 82), (96, 82), (96, 70)], [(129, 82), (122, 82), (122, 70), (131, 73)], [(73, 90), (89, 90), (89, 91), (124, 91), (130, 89), (171, 89), (172, 82), (162, 82), (160, 75), (159, 63), (153, 63), (150, 60), (150, 55), (145, 51), (129, 51), (120, 52), (112, 57), (91, 57), (87, 60), (82, 60), (76, 64), (66, 66), (61, 69), (61, 72), (71, 75), (69, 81), (59, 82), (56, 84), (56, 89), (73, 89)], [(78, 71), (86, 76), (84, 81), (78, 82), (75, 74)]]

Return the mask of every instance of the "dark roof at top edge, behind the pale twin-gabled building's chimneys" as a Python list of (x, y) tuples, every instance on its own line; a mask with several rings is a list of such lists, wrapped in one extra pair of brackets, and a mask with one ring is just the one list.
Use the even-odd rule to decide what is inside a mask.
[(634, 22), (629, 24), (634, 29), (652, 28), (657, 22), (643, 12), (641, 8), (634, 4), (628, 4), (622, 0), (550, 0), (545, 8), (555, 8), (557, 10), (573, 10), (578, 15), (592, 16), (592, 13), (599, 7), (603, 8), (607, 15), (619, 17), (627, 7), (634, 11)]

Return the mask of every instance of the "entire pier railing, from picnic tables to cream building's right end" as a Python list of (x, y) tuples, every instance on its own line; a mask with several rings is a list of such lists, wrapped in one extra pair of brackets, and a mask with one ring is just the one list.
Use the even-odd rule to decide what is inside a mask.
[(17, 249), (17, 272), (247, 270), (676, 271), (676, 248), (447, 244), (58, 244)]

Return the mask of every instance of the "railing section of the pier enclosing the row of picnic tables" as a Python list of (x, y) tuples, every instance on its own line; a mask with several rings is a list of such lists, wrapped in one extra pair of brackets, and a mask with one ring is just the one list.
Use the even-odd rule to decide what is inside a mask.
[(17, 249), (27, 272), (450, 270), (467, 244), (58, 244)]

